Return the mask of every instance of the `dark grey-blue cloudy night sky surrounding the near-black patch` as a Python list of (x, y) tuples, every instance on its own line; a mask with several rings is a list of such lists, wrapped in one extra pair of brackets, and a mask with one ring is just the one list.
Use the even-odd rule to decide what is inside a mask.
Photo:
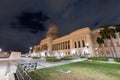
[(29, 46), (39, 44), (46, 30), (32, 33), (23, 27), (14, 29), (10, 23), (23, 11), (40, 10), (50, 17), (46, 30), (55, 21), (61, 35), (84, 26), (120, 24), (120, 0), (0, 0), (0, 48), (28, 51)]

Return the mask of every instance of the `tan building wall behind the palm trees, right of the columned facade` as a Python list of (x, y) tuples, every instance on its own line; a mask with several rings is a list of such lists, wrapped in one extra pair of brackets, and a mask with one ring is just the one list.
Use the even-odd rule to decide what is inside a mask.
[(120, 37), (118, 37), (117, 39), (106, 39), (104, 40), (104, 44), (102, 44), (102, 46), (99, 46), (99, 44), (96, 42), (97, 37), (101, 37), (99, 32), (100, 29), (96, 29), (91, 32), (93, 47), (95, 48), (96, 56), (120, 57)]

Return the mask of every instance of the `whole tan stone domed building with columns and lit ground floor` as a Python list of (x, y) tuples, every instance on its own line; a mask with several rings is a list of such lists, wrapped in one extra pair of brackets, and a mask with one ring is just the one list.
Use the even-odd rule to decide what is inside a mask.
[[(34, 46), (33, 52), (41, 56), (77, 55), (112, 57), (113, 55), (108, 47), (99, 47), (99, 44), (96, 42), (97, 37), (100, 37), (99, 29), (91, 31), (89, 27), (78, 29), (61, 37), (57, 25), (53, 23), (49, 26), (46, 38), (41, 40), (39, 45)], [(120, 52), (119, 46), (117, 46), (117, 50)], [(117, 54), (120, 56), (119, 53)]]

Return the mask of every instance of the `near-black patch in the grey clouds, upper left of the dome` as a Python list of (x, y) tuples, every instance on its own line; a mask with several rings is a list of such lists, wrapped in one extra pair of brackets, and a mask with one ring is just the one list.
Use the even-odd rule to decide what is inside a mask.
[[(22, 12), (16, 17), (17, 22), (13, 22), (14, 28), (29, 30), (32, 33), (45, 30), (45, 22), (49, 17), (42, 11), (39, 12)], [(20, 25), (20, 26), (16, 26)]]

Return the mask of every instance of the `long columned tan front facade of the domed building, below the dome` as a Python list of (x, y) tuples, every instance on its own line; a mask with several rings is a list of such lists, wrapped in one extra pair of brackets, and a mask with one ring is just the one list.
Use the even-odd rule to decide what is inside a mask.
[(88, 27), (73, 31), (54, 40), (47, 37), (40, 42), (40, 48), (41, 51), (39, 52), (55, 56), (94, 56), (95, 54), (91, 40), (91, 30)]

